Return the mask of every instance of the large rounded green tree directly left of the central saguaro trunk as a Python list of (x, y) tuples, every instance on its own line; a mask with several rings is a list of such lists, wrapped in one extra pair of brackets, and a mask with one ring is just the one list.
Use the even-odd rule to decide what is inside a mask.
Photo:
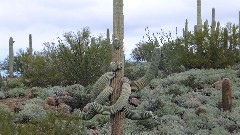
[(108, 70), (111, 61), (109, 37), (91, 37), (88, 28), (65, 33), (63, 37), (59, 38), (55, 52), (57, 68), (67, 84), (87, 86)]

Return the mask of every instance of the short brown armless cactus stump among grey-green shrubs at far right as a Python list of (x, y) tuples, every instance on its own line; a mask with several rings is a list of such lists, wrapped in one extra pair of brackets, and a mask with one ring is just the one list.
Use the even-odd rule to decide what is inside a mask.
[(222, 107), (223, 111), (231, 110), (232, 108), (232, 89), (229, 78), (223, 78), (222, 81)]

